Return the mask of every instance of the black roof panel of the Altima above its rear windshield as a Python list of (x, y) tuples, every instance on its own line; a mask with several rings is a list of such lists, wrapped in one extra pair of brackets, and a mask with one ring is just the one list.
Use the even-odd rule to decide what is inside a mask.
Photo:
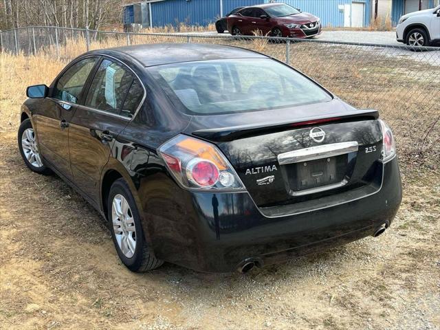
[(227, 58), (267, 58), (263, 54), (226, 45), (200, 43), (155, 43), (96, 50), (93, 53), (117, 56), (123, 53), (135, 58), (144, 67), (181, 62), (221, 60)]

